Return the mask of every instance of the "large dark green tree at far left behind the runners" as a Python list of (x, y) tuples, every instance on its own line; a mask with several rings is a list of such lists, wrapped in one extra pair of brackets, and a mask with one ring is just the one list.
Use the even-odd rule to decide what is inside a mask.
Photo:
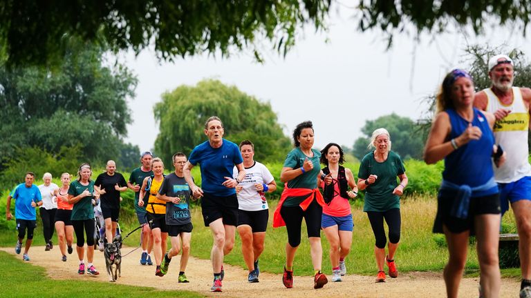
[(36, 146), (57, 152), (80, 144), (84, 159), (104, 161), (120, 152), (131, 115), (136, 77), (124, 66), (106, 66), (105, 48), (71, 43), (54, 68), (0, 64), (0, 151)]

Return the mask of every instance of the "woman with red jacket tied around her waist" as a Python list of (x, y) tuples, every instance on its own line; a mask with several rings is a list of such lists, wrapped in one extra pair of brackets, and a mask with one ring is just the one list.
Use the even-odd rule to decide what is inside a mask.
[[(317, 176), (323, 171), (319, 168), (321, 152), (313, 149), (314, 132), (311, 121), (299, 123), (293, 131), (295, 148), (288, 153), (280, 173), (280, 179), (286, 183), (277, 210), (274, 211), (273, 228), (286, 226), (288, 243), (286, 244), (286, 266), (282, 282), (286, 288), (293, 287), (293, 261), (295, 252), (301, 243), (302, 218), (306, 221), (310, 255), (314, 269), (313, 288), (322, 288), (328, 279), (321, 272), (323, 248), (321, 246), (321, 217), (324, 199), (317, 188)], [(328, 176), (326, 184), (332, 183)]]

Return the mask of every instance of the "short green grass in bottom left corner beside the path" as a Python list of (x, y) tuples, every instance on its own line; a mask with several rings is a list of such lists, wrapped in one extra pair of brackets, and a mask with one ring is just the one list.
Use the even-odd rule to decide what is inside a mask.
[[(203, 297), (195, 292), (156, 290), (98, 281), (53, 280), (46, 270), (0, 252), (2, 297)], [(112, 293), (112, 295), (111, 295)]]

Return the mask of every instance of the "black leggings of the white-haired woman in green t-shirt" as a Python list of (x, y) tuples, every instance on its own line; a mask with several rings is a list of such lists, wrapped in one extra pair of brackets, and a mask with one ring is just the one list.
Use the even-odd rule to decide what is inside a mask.
[(393, 208), (384, 212), (367, 212), (371, 228), (373, 228), (374, 237), (376, 238), (375, 246), (385, 248), (387, 239), (385, 237), (384, 219), (389, 227), (389, 243), (398, 244), (400, 241), (400, 209)]

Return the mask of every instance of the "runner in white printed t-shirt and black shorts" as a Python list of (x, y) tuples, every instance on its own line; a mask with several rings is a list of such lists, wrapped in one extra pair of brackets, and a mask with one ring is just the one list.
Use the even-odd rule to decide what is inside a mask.
[[(238, 195), (238, 232), (241, 238), (241, 253), (247, 264), (250, 283), (259, 282), (258, 259), (263, 252), (265, 230), (268, 227), (269, 207), (265, 192), (277, 190), (277, 182), (262, 163), (254, 161), (254, 144), (241, 141), (240, 152), (245, 167), (245, 178), (236, 186)], [(234, 167), (233, 177), (238, 176)]]

